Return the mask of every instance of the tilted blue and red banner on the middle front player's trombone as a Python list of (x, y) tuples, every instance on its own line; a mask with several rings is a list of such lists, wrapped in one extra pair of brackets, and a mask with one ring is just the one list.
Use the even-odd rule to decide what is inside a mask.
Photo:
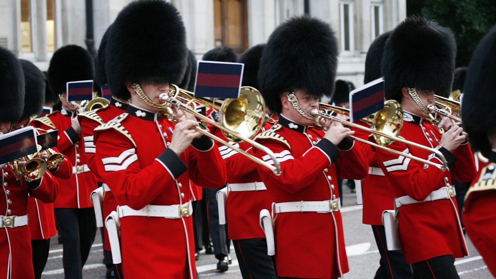
[(384, 108), (384, 79), (375, 79), (350, 92), (350, 121), (355, 122)]

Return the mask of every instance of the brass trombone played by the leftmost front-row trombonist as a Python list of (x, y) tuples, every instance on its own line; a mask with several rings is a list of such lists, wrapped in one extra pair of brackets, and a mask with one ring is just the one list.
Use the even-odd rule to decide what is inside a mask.
[(278, 160), (274, 156), (274, 153), (269, 148), (251, 139), (258, 133), (258, 131), (262, 127), (262, 121), (265, 115), (265, 101), (263, 100), (260, 92), (255, 88), (243, 86), (241, 87), (239, 98), (225, 99), (224, 101), (222, 101), (222, 104), (219, 108), (219, 123), (197, 113), (196, 110), (188, 107), (188, 104), (197, 102), (215, 109), (218, 108), (218, 105), (220, 104), (220, 102), (218, 101), (194, 97), (192, 92), (180, 89), (177, 85), (174, 84), (171, 84), (168, 93), (160, 94), (160, 99), (162, 101), (167, 101), (178, 109), (191, 113), (202, 122), (206, 122), (212, 126), (215, 126), (217, 129), (220, 129), (222, 131), (222, 134), (227, 139), (236, 142), (246, 141), (254, 148), (267, 153), (271, 157), (274, 165), (268, 164), (265, 161), (253, 155), (250, 155), (245, 150), (235, 147), (229, 144), (229, 142), (213, 134), (210, 134), (209, 132), (201, 128), (194, 128), (202, 135), (218, 141), (226, 145), (227, 147), (247, 156), (248, 159), (272, 170), (275, 175), (281, 174), (281, 168)]

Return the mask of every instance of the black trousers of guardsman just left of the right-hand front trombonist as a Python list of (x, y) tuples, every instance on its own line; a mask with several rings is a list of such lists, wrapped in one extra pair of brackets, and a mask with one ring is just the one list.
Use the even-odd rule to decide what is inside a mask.
[(375, 243), (380, 254), (379, 268), (374, 279), (411, 279), (412, 268), (405, 262), (403, 251), (389, 251), (384, 226), (372, 225)]

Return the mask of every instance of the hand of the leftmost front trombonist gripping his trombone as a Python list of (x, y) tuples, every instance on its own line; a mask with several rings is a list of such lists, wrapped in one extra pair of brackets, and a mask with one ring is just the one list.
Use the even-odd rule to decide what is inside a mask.
[(185, 116), (182, 116), (178, 119), (172, 134), (171, 145), (169, 145), (169, 148), (178, 156), (186, 150), (193, 139), (201, 136), (199, 132), (193, 129), (196, 126), (198, 126), (198, 122), (194, 118), (193, 120), (188, 120)]

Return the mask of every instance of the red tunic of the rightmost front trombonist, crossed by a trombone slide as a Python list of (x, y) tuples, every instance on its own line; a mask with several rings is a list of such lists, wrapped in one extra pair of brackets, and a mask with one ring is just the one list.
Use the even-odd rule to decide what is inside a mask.
[[(404, 115), (405, 123), (401, 131), (403, 138), (433, 148), (439, 144), (437, 141), (440, 141), (441, 135), (436, 127), (424, 123), (419, 116), (407, 112)], [(388, 147), (435, 163), (440, 162), (429, 151), (397, 141)], [(395, 198), (408, 195), (416, 201), (422, 201), (431, 192), (451, 185), (451, 179), (461, 182), (474, 179), (474, 156), (468, 144), (460, 145), (453, 152), (443, 147), (439, 151), (446, 157), (449, 170), (441, 171), (382, 149), (376, 150), (382, 171), (395, 186)], [(442, 255), (462, 258), (468, 254), (454, 197), (400, 207), (398, 230), (403, 255), (409, 264)]]

